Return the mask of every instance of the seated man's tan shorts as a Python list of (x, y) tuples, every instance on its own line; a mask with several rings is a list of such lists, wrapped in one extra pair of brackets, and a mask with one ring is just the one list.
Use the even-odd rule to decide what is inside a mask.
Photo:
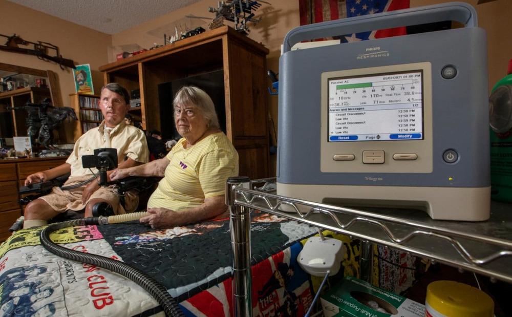
[[(84, 180), (91, 178), (90, 176), (85, 177), (74, 177), (72, 180), (68, 179), (65, 186), (74, 185)], [(95, 180), (93, 180), (95, 181)], [(87, 203), (94, 198), (100, 198), (106, 202), (108, 202), (111, 206), (117, 206), (117, 215), (131, 213), (134, 212), (139, 203), (139, 197), (133, 192), (126, 193), (124, 195), (124, 205), (119, 204), (120, 195), (117, 193), (117, 190), (113, 188), (114, 186), (108, 187), (100, 187), (96, 192), (94, 192), (91, 197), (86, 202), (82, 201), (82, 192), (83, 189), (86, 188), (88, 184), (80, 186), (78, 188), (69, 189), (68, 191), (62, 191), (60, 187), (53, 187), (52, 192), (48, 195), (41, 196), (38, 199), (42, 199), (46, 201), (50, 207), (55, 209), (58, 213), (63, 213), (66, 210), (83, 210)]]

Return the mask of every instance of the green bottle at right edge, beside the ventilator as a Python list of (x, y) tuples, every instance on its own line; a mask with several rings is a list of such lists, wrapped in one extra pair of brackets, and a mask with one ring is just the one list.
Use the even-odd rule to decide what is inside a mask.
[(512, 202), (512, 59), (489, 97), (491, 198)]

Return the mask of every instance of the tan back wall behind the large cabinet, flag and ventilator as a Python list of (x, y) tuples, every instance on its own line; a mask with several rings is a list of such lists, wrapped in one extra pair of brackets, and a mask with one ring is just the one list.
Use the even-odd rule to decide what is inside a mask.
[[(478, 14), (479, 26), (487, 30), (488, 56), (489, 56), (489, 90), (506, 73), (507, 63), (512, 58), (512, 44), (508, 41), (508, 19), (512, 13), (512, 1), (496, 0), (477, 5), (478, 0), (463, 0), (473, 5)], [(419, 7), (449, 2), (447, 0), (411, 0), (411, 7)], [(213, 16), (207, 11), (208, 7), (216, 7), (217, 1), (204, 0), (194, 5), (182, 8), (178, 11), (165, 14), (159, 18), (143, 23), (132, 29), (113, 35), (113, 45), (139, 44), (144, 48), (153, 46), (154, 43), (162, 44), (161, 36), (153, 36), (154, 30), (182, 19), (187, 14), (196, 16)], [(300, 25), (298, 13), (298, 0), (273, 1), (271, 5), (263, 4), (258, 10), (258, 16), (262, 15), (262, 21), (251, 27), (249, 37), (263, 43), (270, 53), (267, 57), (267, 67), (279, 72), (280, 46), (286, 33)], [(268, 82), (270, 86), (270, 81)], [(277, 129), (278, 98), (268, 96), (271, 116)], [(275, 168), (275, 156), (273, 168)], [(275, 173), (275, 169), (273, 170)]]

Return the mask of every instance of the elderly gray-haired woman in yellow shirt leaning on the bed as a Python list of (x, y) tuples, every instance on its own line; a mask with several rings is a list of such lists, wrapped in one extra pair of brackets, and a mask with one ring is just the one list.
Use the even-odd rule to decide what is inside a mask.
[(163, 176), (147, 203), (153, 228), (211, 219), (226, 211), (225, 183), (238, 175), (238, 153), (219, 129), (211, 98), (197, 87), (183, 87), (174, 101), (174, 121), (183, 137), (169, 154), (149, 163), (115, 170), (110, 178)]

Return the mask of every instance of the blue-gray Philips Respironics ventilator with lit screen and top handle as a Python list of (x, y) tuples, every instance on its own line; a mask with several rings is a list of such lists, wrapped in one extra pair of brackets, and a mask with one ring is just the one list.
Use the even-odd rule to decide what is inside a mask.
[[(307, 39), (446, 20), (464, 27), (290, 51)], [(279, 66), (278, 194), (488, 219), (486, 50), (465, 3), (291, 30)]]

